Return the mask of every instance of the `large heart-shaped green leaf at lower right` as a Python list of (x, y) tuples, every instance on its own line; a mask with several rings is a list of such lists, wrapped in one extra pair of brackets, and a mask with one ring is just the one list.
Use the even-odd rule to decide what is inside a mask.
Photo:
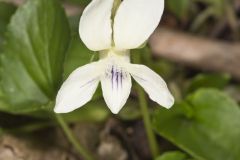
[(226, 94), (201, 89), (153, 118), (156, 132), (201, 160), (240, 159), (240, 109)]

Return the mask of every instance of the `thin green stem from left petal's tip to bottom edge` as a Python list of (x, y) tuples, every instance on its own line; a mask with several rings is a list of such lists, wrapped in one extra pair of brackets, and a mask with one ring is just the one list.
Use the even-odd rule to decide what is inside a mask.
[(85, 160), (94, 160), (94, 158), (91, 156), (90, 153), (78, 142), (77, 138), (73, 135), (70, 128), (68, 127), (67, 123), (64, 121), (64, 119), (59, 114), (55, 114), (56, 119), (61, 126), (62, 130), (64, 131), (67, 139), (69, 142), (75, 147), (75, 149), (79, 152), (79, 154), (85, 159)]

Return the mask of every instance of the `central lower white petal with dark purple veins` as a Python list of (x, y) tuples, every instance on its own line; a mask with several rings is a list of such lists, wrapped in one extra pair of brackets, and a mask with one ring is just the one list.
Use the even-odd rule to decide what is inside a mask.
[(101, 77), (103, 97), (112, 113), (117, 114), (126, 103), (132, 87), (131, 76), (123, 68), (109, 66)]

